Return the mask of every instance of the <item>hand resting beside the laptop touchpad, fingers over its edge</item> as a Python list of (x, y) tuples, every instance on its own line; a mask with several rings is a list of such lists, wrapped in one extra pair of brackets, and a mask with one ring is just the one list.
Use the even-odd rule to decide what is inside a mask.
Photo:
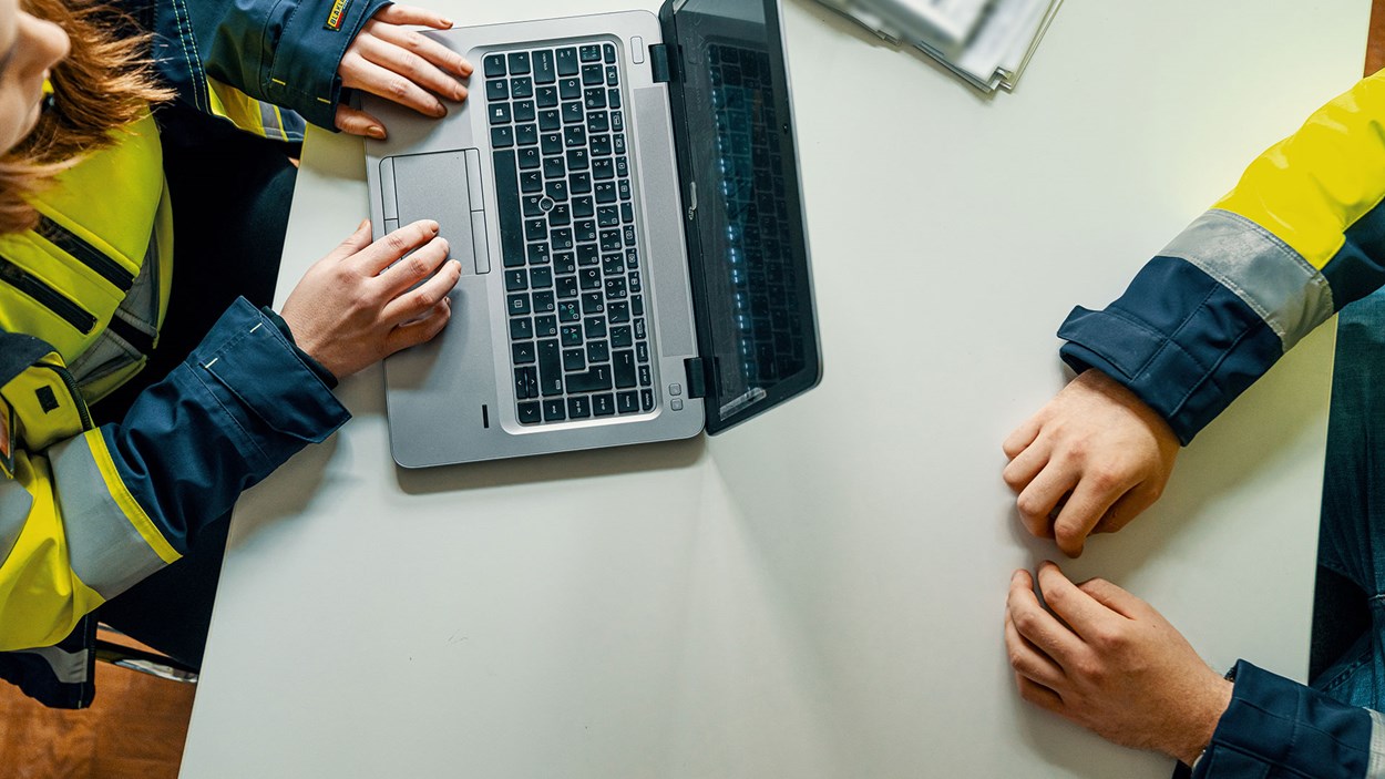
[(436, 222), (414, 222), (374, 244), (370, 222), (361, 222), (307, 269), (283, 316), (298, 348), (345, 378), (442, 331), (452, 317), (447, 292), (460, 277)]

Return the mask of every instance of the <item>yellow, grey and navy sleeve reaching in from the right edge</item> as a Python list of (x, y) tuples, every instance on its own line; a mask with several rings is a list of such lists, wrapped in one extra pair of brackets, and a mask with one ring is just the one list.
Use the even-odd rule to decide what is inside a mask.
[(1278, 358), (1385, 283), (1385, 73), (1262, 154), (1104, 310), (1058, 330), (1187, 444)]

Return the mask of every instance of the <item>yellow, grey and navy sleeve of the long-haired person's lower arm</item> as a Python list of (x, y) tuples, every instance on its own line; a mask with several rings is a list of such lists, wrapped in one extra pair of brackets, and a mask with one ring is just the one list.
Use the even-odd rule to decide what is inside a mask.
[(0, 650), (61, 640), (346, 419), (274, 322), (237, 301), (120, 424), (14, 452), (0, 480)]

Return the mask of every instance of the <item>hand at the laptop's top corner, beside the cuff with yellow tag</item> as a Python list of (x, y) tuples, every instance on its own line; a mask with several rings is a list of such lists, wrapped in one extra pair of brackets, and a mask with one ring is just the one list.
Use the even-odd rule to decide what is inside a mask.
[[(446, 116), (447, 107), (438, 96), (465, 100), (461, 82), (471, 76), (471, 62), (403, 25), (449, 29), (452, 21), (422, 8), (385, 6), (346, 47), (337, 75), (345, 87), (378, 94), (425, 116)], [(337, 128), (353, 136), (385, 137), (384, 122), (349, 105), (337, 107)]]

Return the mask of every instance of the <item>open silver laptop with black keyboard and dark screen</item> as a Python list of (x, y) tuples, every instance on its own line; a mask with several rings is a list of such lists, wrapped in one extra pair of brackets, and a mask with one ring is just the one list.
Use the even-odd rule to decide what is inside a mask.
[(717, 434), (821, 378), (777, 0), (427, 35), (471, 97), (364, 96), (375, 237), (435, 219), (453, 319), (385, 360), (395, 462)]

